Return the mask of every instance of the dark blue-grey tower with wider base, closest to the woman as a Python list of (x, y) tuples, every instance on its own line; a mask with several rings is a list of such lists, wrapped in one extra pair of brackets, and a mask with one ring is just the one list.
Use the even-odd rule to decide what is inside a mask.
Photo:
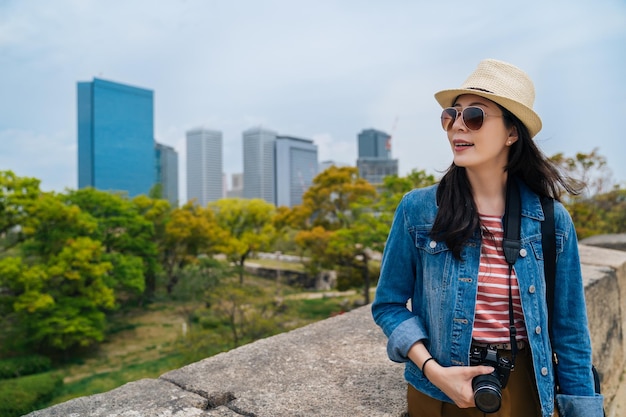
[(398, 160), (391, 158), (391, 136), (376, 129), (365, 129), (358, 135), (359, 175), (371, 184), (381, 184), (383, 178), (398, 175)]

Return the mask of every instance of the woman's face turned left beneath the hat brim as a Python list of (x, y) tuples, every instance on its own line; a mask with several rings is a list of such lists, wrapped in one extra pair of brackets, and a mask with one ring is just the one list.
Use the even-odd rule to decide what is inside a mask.
[(448, 130), (448, 140), (454, 155), (454, 164), (468, 170), (498, 170), (507, 164), (509, 146), (518, 139), (515, 127), (507, 128), (502, 110), (491, 100), (464, 94), (459, 96), (454, 108), (461, 112), (467, 107), (480, 107), (485, 117), (478, 130), (470, 130), (457, 116)]

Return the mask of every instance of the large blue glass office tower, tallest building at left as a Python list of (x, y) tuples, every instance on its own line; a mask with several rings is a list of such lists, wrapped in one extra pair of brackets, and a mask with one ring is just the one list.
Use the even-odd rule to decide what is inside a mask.
[(78, 83), (78, 188), (148, 194), (157, 182), (153, 96), (98, 78)]

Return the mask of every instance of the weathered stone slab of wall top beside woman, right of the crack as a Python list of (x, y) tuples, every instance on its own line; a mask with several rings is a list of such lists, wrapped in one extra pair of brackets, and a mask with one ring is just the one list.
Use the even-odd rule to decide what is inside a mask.
[(240, 347), (161, 378), (203, 396), (232, 393), (255, 416), (399, 416), (406, 384), (370, 307)]

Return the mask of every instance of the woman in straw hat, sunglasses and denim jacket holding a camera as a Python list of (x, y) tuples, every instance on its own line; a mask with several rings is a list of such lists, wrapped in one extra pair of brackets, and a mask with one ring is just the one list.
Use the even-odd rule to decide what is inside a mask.
[[(562, 417), (602, 416), (576, 232), (558, 202), (561, 189), (576, 190), (532, 140), (541, 130), (532, 81), (488, 59), (460, 89), (435, 98), (453, 163), (438, 185), (398, 205), (372, 305), (390, 359), (406, 362), (409, 415), (558, 415), (541, 248), (540, 197), (548, 196), (557, 200), (556, 402)], [(508, 181), (521, 198), (511, 269), (502, 251)]]

